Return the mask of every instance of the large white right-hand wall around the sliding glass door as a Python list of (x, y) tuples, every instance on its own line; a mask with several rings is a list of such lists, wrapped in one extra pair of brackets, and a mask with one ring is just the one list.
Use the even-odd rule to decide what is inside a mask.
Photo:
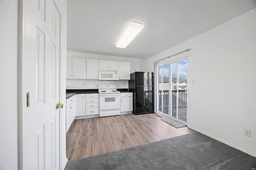
[(256, 87), (256, 8), (150, 57), (148, 69), (187, 48), (188, 127), (256, 156), (256, 89), (246, 86)]

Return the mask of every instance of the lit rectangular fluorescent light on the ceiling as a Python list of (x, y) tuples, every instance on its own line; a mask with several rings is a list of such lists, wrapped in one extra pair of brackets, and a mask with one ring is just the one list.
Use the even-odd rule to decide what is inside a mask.
[(126, 48), (130, 42), (140, 33), (144, 28), (143, 24), (131, 21), (129, 26), (126, 28), (124, 34), (120, 38), (119, 42), (116, 44), (118, 48)]

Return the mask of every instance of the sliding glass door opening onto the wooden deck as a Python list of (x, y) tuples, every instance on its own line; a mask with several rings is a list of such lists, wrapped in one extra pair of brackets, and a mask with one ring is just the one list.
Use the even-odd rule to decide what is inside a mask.
[(188, 59), (159, 66), (158, 71), (159, 111), (187, 122)]

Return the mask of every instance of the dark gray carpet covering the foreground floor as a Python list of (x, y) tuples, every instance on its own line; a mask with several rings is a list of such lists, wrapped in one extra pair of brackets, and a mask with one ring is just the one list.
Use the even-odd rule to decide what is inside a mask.
[(68, 161), (65, 170), (251, 170), (256, 158), (199, 132)]

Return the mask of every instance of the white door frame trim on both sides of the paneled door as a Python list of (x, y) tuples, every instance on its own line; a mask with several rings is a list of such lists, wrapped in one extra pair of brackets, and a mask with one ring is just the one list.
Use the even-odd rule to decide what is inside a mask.
[[(64, 107), (66, 108), (66, 99), (64, 98), (64, 94), (62, 93), (63, 91), (63, 84), (65, 83), (66, 79), (63, 79), (63, 61), (64, 61), (64, 56), (63, 56), (63, 12), (60, 8), (60, 6), (58, 5), (58, 3), (56, 2), (56, 0), (52, 0), (56, 6), (56, 9), (58, 10), (58, 13), (60, 14), (60, 58), (59, 58), (59, 81), (60, 81), (60, 89), (59, 89), (59, 97), (60, 97), (60, 101), (62, 101), (61, 103), (63, 103)], [(23, 115), (26, 114), (25, 112), (25, 108), (26, 108), (26, 92), (24, 91), (24, 80), (23, 77), (24, 76), (24, 51), (23, 51), (23, 44), (24, 44), (24, 39), (25, 39), (25, 32), (24, 32), (24, 28), (25, 28), (25, 9), (23, 6), (24, 0), (18, 0), (18, 169), (23, 169)], [(65, 102), (64, 102), (65, 101)], [(62, 121), (63, 117), (66, 116), (63, 115), (63, 112), (66, 115), (66, 110), (64, 111), (64, 109), (60, 109), (59, 110), (59, 122), (60, 122), (60, 127), (59, 127), (59, 168), (60, 169), (64, 169), (66, 162), (67, 162), (67, 158), (66, 158), (66, 162), (62, 162), (63, 160), (63, 155), (65, 155), (66, 157), (66, 149), (63, 150), (63, 142), (65, 143), (65, 147), (66, 148), (66, 140), (63, 141), (62, 138), (63, 136), (66, 135), (66, 131), (65, 131), (65, 127), (66, 127), (66, 122)], [(66, 138), (66, 137), (65, 137)], [(64, 166), (64, 167), (63, 167)]]

